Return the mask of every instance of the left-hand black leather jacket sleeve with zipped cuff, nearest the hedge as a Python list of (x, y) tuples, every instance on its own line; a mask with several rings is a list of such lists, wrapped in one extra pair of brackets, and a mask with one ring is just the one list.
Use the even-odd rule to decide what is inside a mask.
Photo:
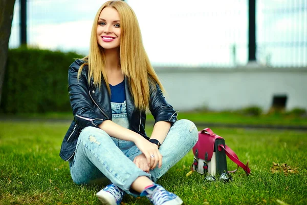
[(68, 92), (75, 121), (82, 130), (88, 126), (97, 127), (103, 120), (108, 118), (94, 110), (94, 102), (90, 97), (89, 83), (87, 82), (86, 72), (84, 71), (85, 67), (79, 79), (77, 78), (81, 65), (82, 62), (76, 60), (69, 68)]

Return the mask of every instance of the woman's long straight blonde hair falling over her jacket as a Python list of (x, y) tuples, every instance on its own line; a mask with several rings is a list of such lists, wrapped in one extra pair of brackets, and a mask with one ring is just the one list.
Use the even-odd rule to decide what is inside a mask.
[(78, 77), (82, 72), (82, 68), (88, 65), (89, 83), (90, 79), (93, 78), (95, 85), (100, 87), (101, 76), (103, 76), (107, 90), (109, 94), (111, 93), (107, 83), (104, 51), (98, 45), (96, 34), (100, 12), (106, 7), (114, 8), (119, 13), (121, 27), (119, 49), (121, 70), (128, 79), (129, 89), (134, 98), (135, 106), (139, 110), (144, 111), (149, 107), (149, 84), (158, 84), (162, 91), (164, 89), (144, 49), (137, 17), (131, 7), (124, 1), (108, 1), (97, 11), (92, 27), (90, 52), (88, 56), (83, 58), (87, 63), (80, 67)]

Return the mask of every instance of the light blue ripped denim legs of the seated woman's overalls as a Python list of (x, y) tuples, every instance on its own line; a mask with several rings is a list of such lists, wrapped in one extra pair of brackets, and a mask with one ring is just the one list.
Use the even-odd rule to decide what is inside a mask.
[(133, 162), (142, 152), (134, 142), (109, 136), (99, 128), (86, 127), (80, 133), (76, 153), (69, 161), (72, 179), (77, 184), (114, 183), (128, 194), (131, 183), (140, 176), (156, 182), (172, 166), (182, 159), (196, 144), (198, 130), (194, 123), (181, 119), (170, 128), (159, 151), (163, 156), (162, 167), (149, 174)]

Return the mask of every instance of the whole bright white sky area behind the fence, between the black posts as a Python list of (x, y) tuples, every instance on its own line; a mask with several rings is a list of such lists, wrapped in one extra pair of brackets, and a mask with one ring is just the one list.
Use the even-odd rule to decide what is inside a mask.
[[(159, 1), (126, 1), (137, 14), (153, 65), (232, 68), (248, 63), (248, 0)], [(28, 45), (85, 55), (100, 5), (28, 0)], [(20, 45), (19, 13), (16, 0), (10, 48)], [(256, 0), (257, 63), (307, 67), (306, 24), (307, 0)], [(155, 40), (157, 33), (167, 38)]]

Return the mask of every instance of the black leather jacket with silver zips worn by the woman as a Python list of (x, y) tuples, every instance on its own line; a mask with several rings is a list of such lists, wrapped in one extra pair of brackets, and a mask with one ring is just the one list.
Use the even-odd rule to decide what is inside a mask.
[[(79, 67), (83, 63), (82, 60), (75, 60), (68, 72), (68, 91), (74, 120), (65, 134), (61, 146), (60, 157), (65, 161), (74, 156), (78, 136), (83, 128), (97, 127), (103, 120), (112, 120), (111, 102), (104, 80), (102, 79), (100, 89), (94, 85), (93, 79), (89, 84), (87, 66), (83, 67), (79, 80), (77, 79)], [(149, 139), (145, 133), (146, 114), (134, 106), (126, 78), (125, 94), (130, 130)], [(150, 86), (149, 110), (155, 118), (155, 123), (168, 121), (172, 126), (177, 121), (176, 111), (166, 102), (158, 84), (156, 84), (156, 89), (154, 86)]]

